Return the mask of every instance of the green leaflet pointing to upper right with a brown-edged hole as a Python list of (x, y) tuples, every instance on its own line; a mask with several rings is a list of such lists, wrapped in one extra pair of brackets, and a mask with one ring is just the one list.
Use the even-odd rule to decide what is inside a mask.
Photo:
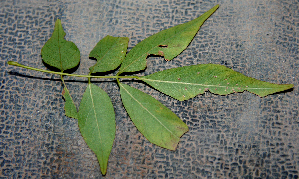
[(163, 30), (138, 43), (127, 54), (118, 74), (144, 70), (146, 67), (146, 58), (150, 54), (164, 56), (165, 60), (172, 60), (189, 45), (204, 21), (218, 7), (219, 5), (216, 5), (192, 21)]

